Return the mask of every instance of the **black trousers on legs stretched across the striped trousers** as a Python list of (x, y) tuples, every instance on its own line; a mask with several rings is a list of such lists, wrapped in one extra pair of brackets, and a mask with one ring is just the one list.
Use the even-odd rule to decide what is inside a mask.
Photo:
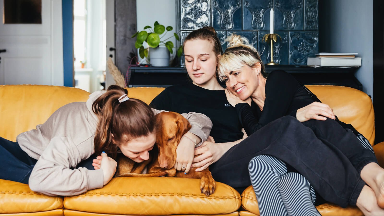
[(361, 169), (376, 162), (356, 135), (334, 120), (304, 124), (284, 116), (230, 148), (209, 170), (216, 181), (233, 188), (251, 185), (248, 163), (257, 155), (280, 158), (311, 183), (325, 200), (341, 207), (356, 205), (365, 182)]

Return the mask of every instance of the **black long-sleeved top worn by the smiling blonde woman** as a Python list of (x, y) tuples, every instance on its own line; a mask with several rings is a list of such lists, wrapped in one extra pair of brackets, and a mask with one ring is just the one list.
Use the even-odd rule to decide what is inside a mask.
[[(298, 109), (311, 104), (321, 102), (308, 88), (300, 84), (295, 77), (282, 70), (272, 71), (265, 83), (265, 101), (263, 111), (252, 101), (251, 106), (247, 103), (237, 104), (236, 111), (247, 135), (262, 128), (269, 122), (291, 115), (296, 118)], [(350, 124), (345, 124), (337, 119), (343, 127), (351, 129), (358, 134)]]

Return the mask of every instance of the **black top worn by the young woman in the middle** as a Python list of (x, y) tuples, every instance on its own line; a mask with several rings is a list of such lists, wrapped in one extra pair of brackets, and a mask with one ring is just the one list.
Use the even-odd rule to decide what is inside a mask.
[(207, 115), (212, 121), (210, 135), (216, 143), (243, 138), (236, 109), (227, 101), (224, 90), (208, 90), (192, 83), (170, 86), (156, 96), (149, 106), (158, 110)]

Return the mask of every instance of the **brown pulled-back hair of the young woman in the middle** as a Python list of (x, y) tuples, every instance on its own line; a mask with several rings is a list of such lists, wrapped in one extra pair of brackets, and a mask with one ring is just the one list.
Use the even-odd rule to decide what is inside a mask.
[(191, 33), (188, 34), (187, 37), (185, 37), (183, 47), (185, 46), (185, 42), (187, 42), (189, 40), (197, 40), (197, 39), (208, 40), (210, 42), (214, 42), (213, 43), (213, 45), (214, 45), (213, 51), (215, 53), (216, 60), (218, 61), (217, 56), (219, 54), (223, 53), (223, 49), (221, 47), (220, 40), (217, 37), (217, 33), (216, 33), (214, 27), (205, 26), (203, 28), (199, 28), (197, 30), (192, 31)]

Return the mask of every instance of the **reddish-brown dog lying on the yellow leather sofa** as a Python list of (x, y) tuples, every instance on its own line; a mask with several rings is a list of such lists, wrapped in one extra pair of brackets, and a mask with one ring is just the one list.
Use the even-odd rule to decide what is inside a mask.
[[(119, 176), (169, 176), (182, 178), (200, 178), (201, 193), (209, 196), (216, 188), (212, 173), (206, 168), (196, 172), (191, 168), (187, 174), (174, 168), (176, 163), (176, 148), (181, 137), (191, 128), (187, 119), (176, 112), (161, 112), (156, 115), (157, 134), (156, 147), (151, 151), (150, 158), (142, 163), (135, 163), (127, 157), (118, 158)], [(157, 160), (156, 160), (157, 158)], [(153, 159), (153, 160), (152, 160)], [(148, 173), (140, 174), (148, 166)]]

